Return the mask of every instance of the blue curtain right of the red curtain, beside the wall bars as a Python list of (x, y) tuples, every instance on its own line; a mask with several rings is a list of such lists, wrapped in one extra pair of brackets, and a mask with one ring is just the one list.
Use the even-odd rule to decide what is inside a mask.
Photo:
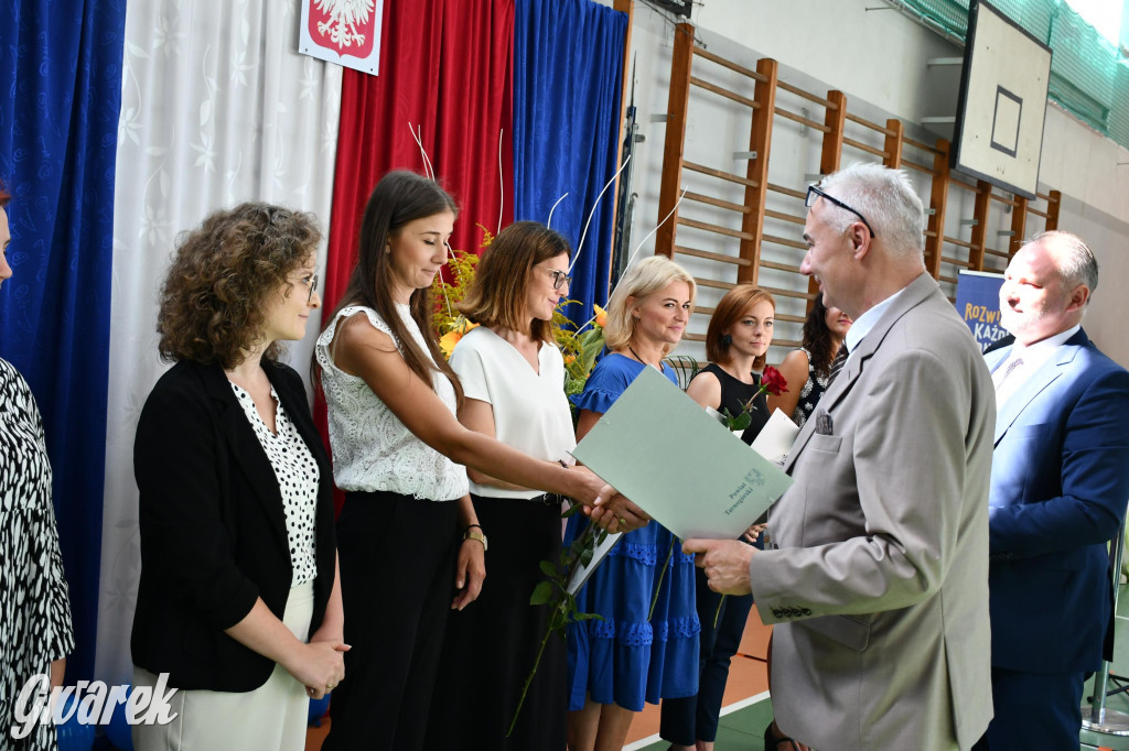
[[(577, 324), (607, 301), (625, 14), (592, 0), (517, 0), (514, 23), (514, 218), (544, 222), (579, 260), (566, 311)], [(584, 246), (577, 247), (596, 205)]]

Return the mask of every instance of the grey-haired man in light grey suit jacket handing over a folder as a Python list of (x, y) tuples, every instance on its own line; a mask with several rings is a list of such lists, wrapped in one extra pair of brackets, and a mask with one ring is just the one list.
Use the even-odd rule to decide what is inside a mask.
[(768, 549), (683, 549), (776, 624), (772, 707), (795, 746), (969, 749), (992, 714), (991, 378), (925, 271), (901, 171), (854, 165), (807, 204), (800, 271), (855, 319), (850, 355), (788, 456)]

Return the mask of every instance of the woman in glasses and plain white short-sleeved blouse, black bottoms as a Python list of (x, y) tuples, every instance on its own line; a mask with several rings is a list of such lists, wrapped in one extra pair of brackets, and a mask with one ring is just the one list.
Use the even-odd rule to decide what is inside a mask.
[[(460, 310), (481, 324), (455, 347), (463, 385), (458, 421), (531, 457), (566, 460), (576, 448), (564, 397), (564, 360), (552, 318), (569, 291), (568, 242), (537, 222), (516, 222), (482, 254)], [(549, 626), (549, 606), (531, 606), (540, 563), (561, 547), (561, 496), (474, 469), (471, 498), (490, 530), (490, 578), (474, 608), (452, 615), (435, 704), (454, 712), (428, 728), (428, 749), (563, 751), (564, 642), (551, 638), (507, 737), (522, 686)], [(466, 727), (475, 732), (466, 734)]]

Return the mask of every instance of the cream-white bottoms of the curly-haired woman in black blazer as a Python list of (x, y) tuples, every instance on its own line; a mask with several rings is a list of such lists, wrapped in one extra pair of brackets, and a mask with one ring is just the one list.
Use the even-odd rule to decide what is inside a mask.
[[(314, 584), (290, 590), (282, 622), (301, 642), (309, 638)], [(156, 686), (157, 677), (133, 666), (133, 686)], [(282, 665), (254, 691), (178, 690), (169, 700), (168, 725), (134, 725), (137, 751), (304, 751), (309, 696)]]

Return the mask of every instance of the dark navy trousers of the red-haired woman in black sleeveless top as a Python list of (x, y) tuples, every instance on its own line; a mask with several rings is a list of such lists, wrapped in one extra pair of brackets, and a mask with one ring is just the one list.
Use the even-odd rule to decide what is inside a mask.
[[(721, 595), (709, 589), (706, 574), (695, 569), (694, 577), (699, 635), (698, 693), (681, 699), (663, 699), (659, 735), (668, 743), (693, 745), (695, 741), (717, 740), (717, 723), (721, 699), (729, 680), (729, 663), (741, 646), (741, 636), (753, 607), (753, 595)], [(720, 603), (721, 611), (718, 613)], [(714, 619), (717, 617), (717, 627)]]

